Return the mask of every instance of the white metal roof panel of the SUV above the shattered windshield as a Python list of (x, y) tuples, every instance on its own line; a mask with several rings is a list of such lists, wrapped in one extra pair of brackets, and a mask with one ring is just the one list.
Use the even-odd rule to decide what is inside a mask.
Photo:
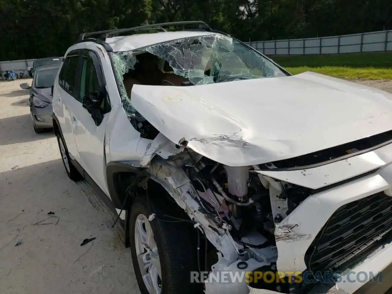
[(175, 31), (175, 32), (158, 32), (147, 34), (133, 34), (130, 36), (109, 37), (106, 43), (109, 44), (114, 52), (131, 51), (154, 45), (162, 42), (168, 42), (181, 38), (208, 36), (217, 33), (208, 31)]

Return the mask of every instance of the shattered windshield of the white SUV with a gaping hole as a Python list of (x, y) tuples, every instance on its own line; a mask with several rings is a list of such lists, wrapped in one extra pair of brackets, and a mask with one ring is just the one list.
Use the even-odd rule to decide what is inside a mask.
[[(127, 85), (130, 83), (205, 85), (287, 75), (252, 48), (221, 34), (182, 38), (111, 54), (128, 113), (134, 113), (128, 98), (130, 90)], [(152, 57), (146, 61), (147, 58), (142, 56)], [(147, 78), (143, 76), (143, 67), (149, 69), (144, 71)]]

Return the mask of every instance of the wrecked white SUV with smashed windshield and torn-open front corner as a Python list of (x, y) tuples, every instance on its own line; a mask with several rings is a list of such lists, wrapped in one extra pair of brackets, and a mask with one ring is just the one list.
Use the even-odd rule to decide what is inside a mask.
[(53, 125), (69, 178), (125, 220), (143, 294), (384, 293), (391, 96), (165, 23), (82, 34)]

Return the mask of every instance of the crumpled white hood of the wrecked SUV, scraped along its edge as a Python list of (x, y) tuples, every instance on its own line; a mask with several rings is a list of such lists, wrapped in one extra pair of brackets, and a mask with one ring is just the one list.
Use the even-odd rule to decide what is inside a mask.
[(392, 95), (316, 73), (189, 87), (134, 85), (158, 131), (216, 162), (255, 165), (392, 129)]

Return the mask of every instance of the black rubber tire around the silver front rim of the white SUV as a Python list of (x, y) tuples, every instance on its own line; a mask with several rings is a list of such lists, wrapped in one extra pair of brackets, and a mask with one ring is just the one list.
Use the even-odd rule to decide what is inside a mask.
[[(166, 197), (166, 196), (164, 196)], [(150, 294), (145, 286), (140, 272), (135, 245), (135, 224), (136, 218), (143, 214), (149, 218), (151, 210), (158, 216), (169, 214), (165, 211), (161, 201), (157, 200), (149, 203), (144, 198), (136, 198), (132, 204), (129, 216), (129, 238), (131, 246), (132, 263), (134, 266), (136, 280), (142, 294)], [(150, 207), (149, 207), (150, 205)], [(151, 209), (151, 210), (150, 210)], [(165, 222), (154, 218), (149, 221), (154, 240), (158, 248), (162, 271), (162, 294), (183, 294), (184, 291), (190, 294), (203, 293), (203, 286), (200, 283), (191, 283), (191, 271), (198, 271), (197, 265), (197, 240), (194, 240), (195, 229), (184, 222)], [(193, 231), (192, 231), (193, 230)], [(186, 289), (186, 290), (185, 290)]]

